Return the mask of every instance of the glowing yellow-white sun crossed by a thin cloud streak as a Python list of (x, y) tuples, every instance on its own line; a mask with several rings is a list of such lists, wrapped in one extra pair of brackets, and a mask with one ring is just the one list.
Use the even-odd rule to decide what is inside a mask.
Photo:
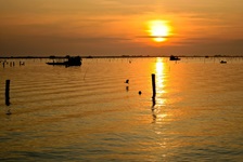
[(170, 27), (165, 21), (151, 21), (149, 23), (149, 28), (150, 37), (153, 38), (155, 42), (166, 41), (170, 32)]

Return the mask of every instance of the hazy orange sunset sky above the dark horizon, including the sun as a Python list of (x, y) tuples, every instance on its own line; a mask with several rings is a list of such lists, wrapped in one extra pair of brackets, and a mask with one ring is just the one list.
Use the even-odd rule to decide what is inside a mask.
[(67, 54), (243, 55), (243, 1), (0, 0), (0, 56)]

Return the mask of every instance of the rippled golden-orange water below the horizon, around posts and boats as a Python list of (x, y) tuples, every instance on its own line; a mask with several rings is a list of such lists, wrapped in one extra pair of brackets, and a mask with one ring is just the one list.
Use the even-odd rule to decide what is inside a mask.
[(243, 58), (225, 59), (1, 65), (0, 161), (242, 161)]

